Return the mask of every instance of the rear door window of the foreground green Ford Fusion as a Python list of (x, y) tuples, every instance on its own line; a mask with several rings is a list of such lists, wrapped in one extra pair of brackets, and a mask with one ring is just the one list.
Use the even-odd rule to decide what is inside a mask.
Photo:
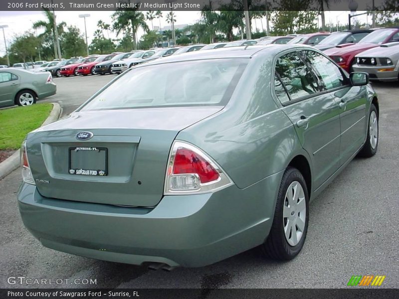
[(276, 73), (286, 87), (291, 100), (296, 100), (319, 91), (317, 79), (297, 52), (285, 54), (277, 59)]

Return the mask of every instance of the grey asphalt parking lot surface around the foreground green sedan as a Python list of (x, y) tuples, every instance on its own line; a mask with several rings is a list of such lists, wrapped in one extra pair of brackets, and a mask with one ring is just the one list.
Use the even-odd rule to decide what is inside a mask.
[[(114, 75), (55, 78), (63, 115)], [(308, 236), (293, 261), (266, 260), (252, 249), (219, 263), (172, 272), (96, 261), (42, 247), (23, 227), (16, 204), (20, 169), (0, 181), (0, 288), (344, 288), (352, 275), (385, 275), (399, 288), (399, 86), (373, 84), (380, 101), (380, 144), (355, 158), (310, 205)], [(69, 279), (69, 284), (9, 285), (8, 277)], [(71, 284), (96, 279), (96, 285)]]

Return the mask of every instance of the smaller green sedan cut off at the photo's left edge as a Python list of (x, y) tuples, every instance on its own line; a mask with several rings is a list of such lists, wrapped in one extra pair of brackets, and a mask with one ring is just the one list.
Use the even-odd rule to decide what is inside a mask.
[(24, 69), (0, 69), (0, 107), (29, 106), (45, 97), (55, 95), (57, 87), (48, 72)]

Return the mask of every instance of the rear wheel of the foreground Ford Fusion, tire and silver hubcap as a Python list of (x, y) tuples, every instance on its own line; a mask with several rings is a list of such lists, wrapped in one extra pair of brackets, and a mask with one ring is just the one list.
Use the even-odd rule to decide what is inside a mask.
[(277, 195), (272, 227), (261, 248), (266, 257), (292, 260), (305, 243), (309, 222), (309, 195), (302, 173), (287, 167)]

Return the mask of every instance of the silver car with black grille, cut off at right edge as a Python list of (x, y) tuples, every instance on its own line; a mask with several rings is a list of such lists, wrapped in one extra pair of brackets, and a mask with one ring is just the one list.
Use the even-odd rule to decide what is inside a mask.
[(399, 42), (389, 42), (379, 47), (363, 51), (355, 56), (355, 72), (366, 72), (370, 80), (398, 81)]

